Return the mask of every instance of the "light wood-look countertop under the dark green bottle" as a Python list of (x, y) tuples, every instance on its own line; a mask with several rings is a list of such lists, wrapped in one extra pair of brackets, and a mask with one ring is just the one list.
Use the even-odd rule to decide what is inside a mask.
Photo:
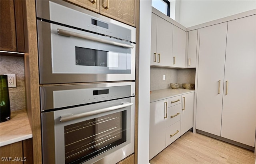
[(11, 119), (0, 123), (0, 146), (32, 138), (26, 110), (11, 113)]

